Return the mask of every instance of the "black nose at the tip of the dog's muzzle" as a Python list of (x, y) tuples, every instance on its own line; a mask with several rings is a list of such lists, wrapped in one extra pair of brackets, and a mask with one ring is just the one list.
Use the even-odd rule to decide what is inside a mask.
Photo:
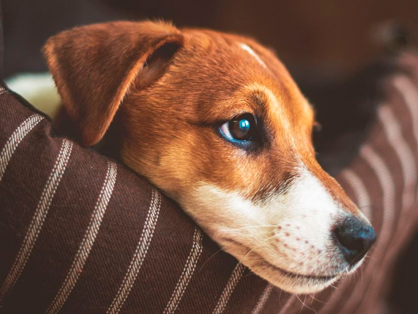
[(363, 258), (376, 240), (375, 230), (354, 216), (345, 218), (334, 229), (334, 234), (342, 254), (351, 265)]

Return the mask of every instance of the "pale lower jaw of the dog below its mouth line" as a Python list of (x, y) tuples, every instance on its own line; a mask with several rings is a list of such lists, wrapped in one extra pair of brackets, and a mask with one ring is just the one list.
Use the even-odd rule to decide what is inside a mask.
[[(264, 278), (272, 285), (284, 291), (296, 294), (314, 293), (324, 290), (345, 275), (353, 273), (363, 261), (360, 260), (349, 270), (346, 269), (329, 276), (315, 274), (306, 275), (287, 271), (282, 267), (274, 265), (263, 258), (263, 256), (235, 241), (225, 241), (224, 239), (222, 242), (224, 242), (224, 244), (227, 242), (227, 244), (223, 246), (223, 249), (240, 260), (254, 274)], [(245, 251), (244, 254), (242, 253), (243, 251)]]

